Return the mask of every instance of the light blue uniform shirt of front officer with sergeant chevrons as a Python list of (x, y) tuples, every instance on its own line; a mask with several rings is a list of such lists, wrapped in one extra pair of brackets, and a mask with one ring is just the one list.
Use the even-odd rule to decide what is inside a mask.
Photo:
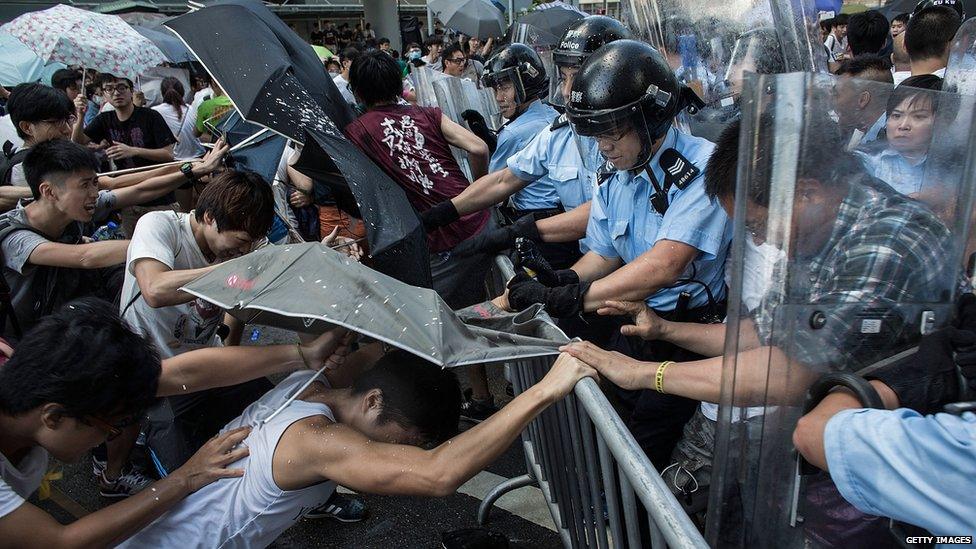
[[(703, 171), (715, 145), (675, 128), (668, 131), (661, 147), (651, 159), (649, 167), (658, 184), (665, 185), (660, 156), (675, 149)], [(651, 205), (654, 195), (645, 170), (634, 174), (617, 171), (602, 183), (593, 195), (586, 239), (590, 251), (607, 258), (620, 258), (624, 263), (654, 247), (659, 240), (674, 240), (698, 249), (698, 255), (679, 278), (694, 278), (708, 286), (716, 300), (725, 297), (725, 258), (732, 240), (732, 224), (717, 200), (705, 194), (700, 172), (685, 188), (672, 185), (668, 190), (670, 206), (661, 215)], [(664, 288), (645, 301), (659, 311), (671, 311), (681, 292), (692, 298), (690, 307), (708, 304), (708, 294), (701, 284), (684, 284)]]

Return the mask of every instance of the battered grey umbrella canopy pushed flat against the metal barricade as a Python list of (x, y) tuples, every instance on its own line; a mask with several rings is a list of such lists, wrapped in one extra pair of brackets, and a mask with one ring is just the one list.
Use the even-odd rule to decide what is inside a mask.
[(440, 366), (553, 355), (566, 341), (543, 326), (538, 308), (502, 315), (475, 306), (462, 312), (470, 319), (465, 324), (434, 290), (377, 273), (320, 243), (267, 246), (182, 290), (247, 323), (306, 333), (344, 326)]

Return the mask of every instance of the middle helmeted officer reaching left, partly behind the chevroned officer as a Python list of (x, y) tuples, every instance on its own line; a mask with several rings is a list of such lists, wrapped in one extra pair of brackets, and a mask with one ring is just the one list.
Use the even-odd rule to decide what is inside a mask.
[[(553, 51), (553, 62), (559, 71), (559, 78), (553, 80), (550, 87), (550, 104), (565, 106), (573, 78), (590, 54), (614, 40), (630, 37), (630, 31), (622, 23), (603, 15), (591, 15), (571, 25)], [(580, 151), (584, 150), (594, 159), (599, 158), (599, 151), (596, 141), (591, 138), (580, 139), (580, 144), (582, 148), (574, 142), (569, 119), (561, 114), (524, 149), (509, 157), (507, 167), (478, 179), (450, 203), (438, 205), (450, 212), (446, 218), (450, 219), (451, 216), (464, 216), (489, 208), (542, 178), (555, 183), (566, 215), (545, 220), (537, 219), (537, 216), (524, 217), (513, 225), (488, 231), (462, 246), (469, 251), (500, 252), (511, 247), (518, 236), (550, 243), (574, 242), (582, 238), (586, 234), (589, 201), (593, 196), (596, 174), (583, 163)], [(570, 247), (543, 244), (540, 251), (556, 268), (567, 268), (579, 259), (579, 253), (573, 246), (575, 244)], [(585, 245), (581, 243), (580, 249), (585, 252)], [(463, 251), (459, 250), (460, 253)]]

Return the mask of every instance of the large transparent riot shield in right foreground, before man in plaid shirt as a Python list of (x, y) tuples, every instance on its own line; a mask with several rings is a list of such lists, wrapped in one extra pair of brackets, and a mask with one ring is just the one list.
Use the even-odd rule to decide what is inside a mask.
[[(745, 84), (706, 535), (713, 547), (887, 545), (889, 521), (844, 501), (798, 458), (792, 435), (824, 374), (863, 375), (951, 320), (974, 136), (920, 176), (943, 196), (934, 209), (848, 150), (833, 77), (752, 74)], [(933, 134), (971, 127), (957, 108), (970, 98), (935, 93)], [(778, 253), (757, 269), (750, 244)]]

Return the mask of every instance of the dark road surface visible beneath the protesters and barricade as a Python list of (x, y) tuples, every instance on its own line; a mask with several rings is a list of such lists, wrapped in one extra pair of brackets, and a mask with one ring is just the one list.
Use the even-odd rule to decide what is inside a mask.
[[(253, 329), (245, 330), (246, 344), (274, 344), (293, 340), (293, 335), (280, 330), (259, 327), (255, 341), (250, 341)], [(504, 404), (502, 368), (490, 368), (489, 378), (496, 401)], [(462, 383), (464, 377), (461, 376)], [(462, 425), (463, 427), (463, 425)], [(525, 474), (525, 460), (521, 440), (485, 472), (447, 498), (364, 496), (369, 508), (368, 518), (360, 523), (342, 524), (333, 520), (303, 520), (286, 531), (272, 547), (377, 548), (440, 547), (442, 532), (477, 526), (477, 509), (481, 499), (499, 482)], [(98, 495), (91, 473), (91, 462), (64, 465), (64, 478), (52, 484), (52, 497), (34, 503), (50, 512), (63, 523), (111, 503)], [(536, 487), (515, 490), (492, 510), (485, 525), (506, 535), (519, 546), (556, 548), (560, 546), (542, 492)]]

